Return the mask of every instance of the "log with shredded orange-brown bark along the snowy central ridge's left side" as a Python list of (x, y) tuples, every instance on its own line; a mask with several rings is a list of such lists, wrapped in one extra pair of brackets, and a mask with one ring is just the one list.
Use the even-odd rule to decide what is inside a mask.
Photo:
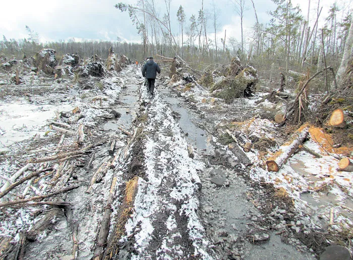
[(123, 203), (119, 209), (119, 213), (116, 215), (114, 230), (110, 236), (106, 251), (104, 253), (104, 260), (117, 259), (119, 257), (119, 240), (125, 233), (125, 224), (133, 210), (138, 182), (139, 177), (135, 176), (133, 179), (126, 183)]

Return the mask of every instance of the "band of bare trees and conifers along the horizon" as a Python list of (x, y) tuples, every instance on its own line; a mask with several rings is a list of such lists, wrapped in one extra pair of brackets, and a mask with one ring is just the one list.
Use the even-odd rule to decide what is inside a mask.
[[(240, 57), (243, 64), (249, 64), (261, 73), (262, 78), (279, 79), (279, 72), (289, 71), (311, 74), (322, 68), (331, 67), (337, 71), (344, 57), (352, 56), (352, 15), (351, 10), (339, 7), (334, 3), (328, 14), (321, 13), (320, 2), (315, 14), (305, 18), (299, 7), (292, 6), (290, 0), (273, 0), (277, 5), (270, 12), (271, 22), (260, 24), (257, 20), (256, 6), (251, 0), (251, 7), (256, 23), (247, 37), (243, 36), (243, 24), (240, 25), (241, 40), (224, 37), (210, 38), (208, 32), (218, 31), (219, 13), (213, 6), (212, 12), (204, 10), (203, 1), (197, 15), (189, 19), (185, 17), (184, 8), (180, 6), (178, 13), (170, 14), (170, 0), (164, 0), (169, 10), (162, 18), (156, 14), (153, 1), (141, 0), (139, 6), (117, 4), (116, 9), (129, 12), (131, 22), (136, 25), (141, 36), (141, 43), (116, 41), (69, 41), (40, 43), (39, 35), (26, 27), (28, 38), (23, 40), (7, 39), (0, 41), (0, 56), (21, 59), (24, 55), (33, 56), (42, 48), (56, 50), (58, 60), (66, 53), (77, 53), (81, 58), (94, 54), (105, 59), (108, 50), (120, 55), (124, 54), (132, 60), (143, 60), (150, 55), (174, 57), (179, 55), (194, 69), (211, 70), (217, 64), (229, 64), (232, 57)], [(245, 0), (233, 1), (237, 13), (243, 21)], [(248, 3), (247, 3), (248, 4)], [(320, 17), (325, 17), (322, 28), (318, 26)], [(309, 25), (309, 17), (315, 23)], [(173, 33), (170, 21), (174, 19), (180, 24), (179, 33)], [(246, 39), (245, 39), (246, 38)], [(350, 48), (350, 49), (349, 49)], [(348, 50), (348, 57), (344, 51)], [(347, 53), (345, 53), (347, 55)], [(277, 73), (274, 73), (277, 72)], [(330, 77), (330, 76), (326, 76)], [(332, 79), (329, 79), (332, 81)]]

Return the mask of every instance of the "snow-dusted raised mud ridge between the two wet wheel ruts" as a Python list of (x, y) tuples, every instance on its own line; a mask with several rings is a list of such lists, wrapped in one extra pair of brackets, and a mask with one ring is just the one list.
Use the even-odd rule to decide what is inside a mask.
[(189, 158), (188, 144), (159, 91), (151, 97), (142, 85), (140, 101), (145, 105), (137, 118), (141, 142), (132, 145), (131, 157), (143, 160), (139, 163), (144, 165), (144, 175), (140, 174), (133, 214), (116, 256), (211, 259), (198, 217), (201, 184), (197, 171), (204, 165)]

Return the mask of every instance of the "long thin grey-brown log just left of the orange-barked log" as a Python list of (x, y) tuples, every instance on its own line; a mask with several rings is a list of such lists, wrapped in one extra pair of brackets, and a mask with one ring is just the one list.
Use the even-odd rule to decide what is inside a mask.
[(101, 260), (103, 257), (104, 247), (106, 246), (108, 233), (109, 233), (110, 215), (112, 212), (111, 204), (114, 200), (116, 180), (117, 180), (116, 177), (114, 177), (110, 185), (110, 191), (108, 194), (104, 217), (102, 219), (99, 234), (98, 234), (97, 247), (94, 250), (94, 255), (93, 255), (94, 260)]

